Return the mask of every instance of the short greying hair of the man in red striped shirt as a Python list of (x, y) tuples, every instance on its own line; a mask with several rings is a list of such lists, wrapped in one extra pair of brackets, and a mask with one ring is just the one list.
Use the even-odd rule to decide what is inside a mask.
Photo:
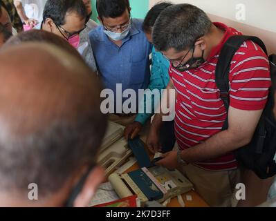
[(176, 4), (161, 12), (153, 30), (154, 47), (160, 51), (187, 50), (206, 35), (212, 21), (203, 10), (190, 4)]

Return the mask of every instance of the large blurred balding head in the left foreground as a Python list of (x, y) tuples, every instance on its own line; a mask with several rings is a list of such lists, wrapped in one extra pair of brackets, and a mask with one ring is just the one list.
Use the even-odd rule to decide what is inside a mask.
[(50, 44), (5, 48), (0, 66), (0, 191), (36, 183), (41, 195), (53, 193), (95, 162), (106, 126), (100, 82)]

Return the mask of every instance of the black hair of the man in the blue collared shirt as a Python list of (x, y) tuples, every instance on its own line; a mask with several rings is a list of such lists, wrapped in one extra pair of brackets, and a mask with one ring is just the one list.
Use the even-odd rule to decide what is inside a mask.
[(120, 17), (130, 10), (129, 0), (97, 0), (96, 8), (100, 19)]

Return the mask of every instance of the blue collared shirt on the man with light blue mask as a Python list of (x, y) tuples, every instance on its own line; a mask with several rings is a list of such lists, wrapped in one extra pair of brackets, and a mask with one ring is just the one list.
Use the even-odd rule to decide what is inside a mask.
[[(129, 35), (122, 40), (120, 47), (103, 30), (103, 26), (98, 26), (89, 32), (89, 39), (104, 87), (116, 95), (116, 84), (122, 84), (122, 91), (131, 88), (138, 96), (138, 89), (146, 89), (149, 84), (152, 48), (142, 32), (142, 20), (132, 20)], [(138, 97), (136, 99), (138, 102)]]

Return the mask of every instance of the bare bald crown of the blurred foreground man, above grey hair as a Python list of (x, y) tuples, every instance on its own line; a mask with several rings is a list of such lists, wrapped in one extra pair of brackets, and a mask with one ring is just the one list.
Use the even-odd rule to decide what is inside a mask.
[(89, 112), (100, 102), (95, 75), (54, 46), (12, 47), (0, 53), (0, 66), (0, 118), (17, 134), (57, 119), (75, 121), (80, 111)]

